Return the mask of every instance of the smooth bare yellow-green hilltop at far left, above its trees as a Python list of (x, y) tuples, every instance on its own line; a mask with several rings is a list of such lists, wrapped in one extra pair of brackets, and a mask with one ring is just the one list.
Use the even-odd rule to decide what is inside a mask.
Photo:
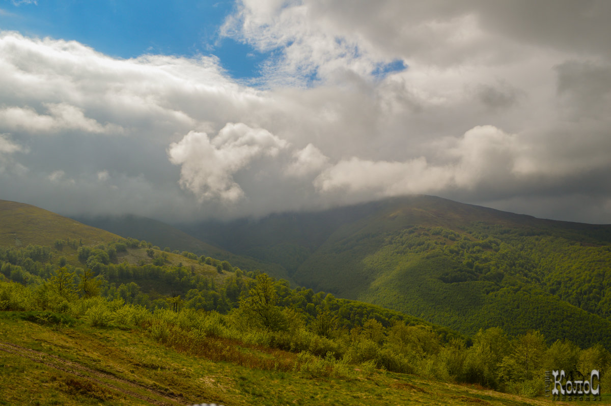
[(0, 246), (53, 245), (67, 239), (95, 245), (121, 237), (36, 206), (0, 200)]

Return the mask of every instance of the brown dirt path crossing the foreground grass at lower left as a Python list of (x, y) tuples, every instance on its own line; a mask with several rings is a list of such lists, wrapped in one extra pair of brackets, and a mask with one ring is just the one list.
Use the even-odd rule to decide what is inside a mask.
[[(106, 388), (110, 388), (111, 390), (120, 392), (125, 396), (136, 397), (137, 399), (141, 399), (141, 401), (148, 402), (153, 405), (176, 405), (176, 404), (188, 404), (180, 395), (169, 395), (153, 386), (143, 385), (142, 383), (135, 382), (133, 380), (123, 379), (119, 377), (115, 377), (114, 375), (108, 374), (106, 372), (97, 371), (95, 369), (88, 368), (84, 365), (76, 363), (74, 361), (67, 360), (62, 357), (57, 357), (57, 355), (49, 354), (42, 351), (32, 350), (27, 347), (18, 346), (16, 344), (4, 343), (0, 341), (0, 350), (4, 352), (9, 352), (19, 357), (28, 358), (34, 362), (45, 364), (50, 368), (57, 369), (59, 371), (67, 372), (68, 374), (73, 374), (78, 377), (90, 380), (92, 382), (97, 383), (98, 385), (104, 386)], [(91, 376), (92, 375), (92, 376)], [(162, 397), (164, 401), (160, 401), (158, 399), (153, 399), (152, 397), (145, 396), (144, 394), (139, 394), (134, 391), (130, 391), (124, 388), (120, 388), (114, 383), (104, 382), (103, 380), (109, 380), (114, 383), (122, 383), (124, 385), (131, 386), (132, 388), (136, 388), (139, 390), (147, 391), (148, 394), (152, 396)]]

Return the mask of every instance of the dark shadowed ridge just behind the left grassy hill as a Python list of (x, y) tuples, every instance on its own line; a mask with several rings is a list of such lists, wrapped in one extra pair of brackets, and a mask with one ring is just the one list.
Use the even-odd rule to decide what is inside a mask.
[(111, 231), (125, 238), (132, 237), (145, 240), (157, 245), (161, 249), (169, 247), (170, 250), (188, 251), (197, 255), (211, 256), (222, 261), (229, 261), (232, 266), (238, 266), (247, 270), (260, 269), (277, 278), (291, 279), (284, 267), (279, 264), (266, 263), (265, 259), (249, 258), (247, 255), (235, 255), (213, 244), (200, 241), (196, 237), (158, 220), (134, 216), (132, 214), (114, 217), (74, 218), (79, 222)]

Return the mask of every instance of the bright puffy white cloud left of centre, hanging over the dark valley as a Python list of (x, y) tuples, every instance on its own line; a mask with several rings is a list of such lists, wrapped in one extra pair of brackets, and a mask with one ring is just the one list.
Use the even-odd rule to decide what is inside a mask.
[(170, 162), (181, 165), (180, 184), (200, 201), (219, 198), (237, 201), (244, 196), (233, 175), (256, 158), (276, 156), (288, 143), (262, 128), (227, 123), (210, 139), (191, 131), (167, 151)]

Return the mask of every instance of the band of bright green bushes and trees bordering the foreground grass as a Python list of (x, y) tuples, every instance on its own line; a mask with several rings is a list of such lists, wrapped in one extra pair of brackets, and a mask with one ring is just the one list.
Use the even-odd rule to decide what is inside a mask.
[[(51, 280), (58, 283), (62, 275), (65, 280), (70, 280), (67, 269), (58, 269)], [(241, 278), (235, 275), (233, 278), (232, 283), (237, 285)], [(321, 327), (321, 322), (328, 325), (330, 321), (339, 320), (342, 309), (349, 309), (352, 302), (328, 294), (313, 294), (309, 289), (290, 291), (287, 285), (265, 274), (258, 275), (250, 288), (245, 288), (240, 307), (226, 315), (196, 310), (187, 305), (189, 302), (182, 310), (177, 307), (156, 308), (154, 311), (112, 297), (82, 295), (80, 299), (71, 297), (68, 302), (57, 293), (57, 289), (51, 288), (51, 280), (38, 286), (37, 290), (34, 286), (0, 282), (0, 303), (5, 310), (29, 310), (29, 313), (23, 313), (23, 318), (38, 324), (69, 325), (75, 322), (70, 317), (77, 317), (84, 324), (97, 328), (142, 328), (159, 343), (186, 351), (199, 352), (201, 346), (213, 338), (287, 350), (297, 354), (293, 370), (313, 379), (352, 380), (359, 373), (371, 377), (377, 369), (384, 369), (450, 382), (477, 383), (535, 396), (543, 389), (539, 377), (543, 376), (544, 368), (580, 372), (593, 368), (606, 371), (611, 366), (611, 356), (602, 346), (582, 350), (569, 341), (557, 341), (548, 347), (541, 333), (527, 332), (510, 339), (497, 327), (478, 331), (472, 338), (472, 346), (467, 346), (469, 340), (445, 339), (447, 336), (437, 333), (431, 326), (412, 325), (403, 320), (384, 325), (382, 321), (385, 319), (378, 313), (374, 313), (377, 318), (370, 317), (351, 328), (337, 328), (325, 337), (314, 333)], [(44, 292), (51, 299), (41, 300)], [(140, 286), (133, 282), (121, 285), (116, 292), (128, 300), (142, 294)], [(202, 294), (198, 289), (191, 289), (188, 296), (192, 297), (195, 292)], [(291, 300), (287, 303), (300, 305), (296, 309), (279, 305), (289, 298)], [(305, 302), (310, 300), (310, 304), (318, 303), (318, 306), (324, 306), (324, 310), (312, 317), (299, 311), (307, 306), (297, 298)], [(360, 305), (367, 306), (364, 303)], [(45, 308), (52, 311), (40, 311)], [(273, 323), (266, 324), (267, 313), (255, 311), (265, 308), (279, 311), (278, 317), (282, 322), (273, 324), (277, 323), (276, 319), (267, 319)], [(213, 349), (206, 351), (217, 353)], [(242, 357), (235, 352), (227, 354), (232, 359)], [(286, 367), (276, 363), (265, 368)]]

